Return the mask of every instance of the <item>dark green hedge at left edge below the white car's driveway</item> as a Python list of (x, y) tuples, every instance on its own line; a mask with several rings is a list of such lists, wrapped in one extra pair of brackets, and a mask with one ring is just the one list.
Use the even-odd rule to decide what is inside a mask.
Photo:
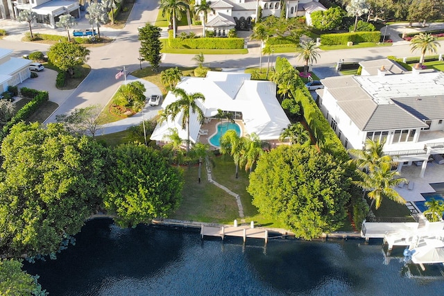
[(19, 123), (20, 121), (26, 121), (44, 102), (49, 100), (49, 93), (44, 91), (39, 91), (36, 89), (28, 89), (22, 87), (20, 89), (22, 96), (28, 98), (33, 98), (31, 102), (27, 103), (20, 109), (13, 117), (8, 121), (8, 123), (3, 126), (1, 137), (6, 137), (6, 134), (10, 131), (13, 125)]

